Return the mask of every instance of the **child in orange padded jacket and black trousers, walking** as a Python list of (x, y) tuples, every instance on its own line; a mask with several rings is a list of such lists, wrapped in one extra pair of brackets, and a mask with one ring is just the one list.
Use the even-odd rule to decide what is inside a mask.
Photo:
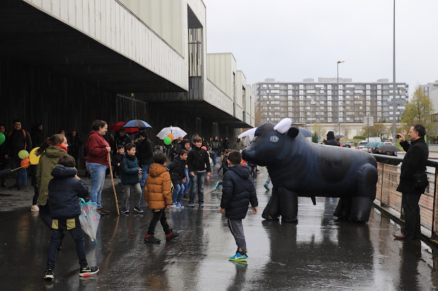
[(166, 240), (176, 238), (179, 233), (170, 229), (166, 212), (172, 204), (172, 181), (166, 168), (166, 154), (159, 152), (153, 157), (153, 164), (149, 168), (149, 178), (144, 186), (144, 199), (146, 205), (152, 210), (153, 217), (149, 223), (149, 229), (144, 236), (145, 243), (159, 243), (159, 238), (155, 238), (155, 226), (158, 221), (162, 224)]

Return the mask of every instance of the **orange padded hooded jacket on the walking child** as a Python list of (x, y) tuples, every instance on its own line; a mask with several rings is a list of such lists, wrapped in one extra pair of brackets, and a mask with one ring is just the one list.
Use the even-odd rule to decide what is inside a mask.
[(161, 210), (172, 204), (172, 182), (164, 165), (151, 164), (144, 186), (144, 199), (149, 209)]

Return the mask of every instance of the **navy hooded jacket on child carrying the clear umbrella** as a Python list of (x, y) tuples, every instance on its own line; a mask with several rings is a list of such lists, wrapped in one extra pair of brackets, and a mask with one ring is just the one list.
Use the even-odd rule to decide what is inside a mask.
[(79, 197), (88, 196), (84, 180), (75, 178), (77, 169), (56, 165), (49, 182), (49, 210), (52, 219), (73, 219), (81, 214)]

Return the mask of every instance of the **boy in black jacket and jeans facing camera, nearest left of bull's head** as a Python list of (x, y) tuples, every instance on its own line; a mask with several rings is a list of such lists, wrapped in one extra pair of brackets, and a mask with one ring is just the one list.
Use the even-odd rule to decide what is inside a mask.
[[(211, 174), (210, 161), (206, 150), (201, 148), (203, 139), (194, 137), (194, 147), (189, 152), (187, 164), (189, 167), (190, 178), (192, 179), (192, 188), (190, 189), (189, 207), (194, 207), (194, 196), (198, 188), (199, 207), (204, 207), (204, 182), (205, 172), (207, 177)], [(207, 167), (206, 167), (207, 166)]]

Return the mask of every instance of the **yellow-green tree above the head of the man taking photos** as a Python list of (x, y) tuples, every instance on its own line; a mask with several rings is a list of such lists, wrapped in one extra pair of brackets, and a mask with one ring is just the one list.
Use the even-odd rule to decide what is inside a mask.
[(433, 122), (434, 111), (432, 99), (424, 94), (420, 85), (417, 85), (411, 100), (406, 105), (406, 111), (402, 115), (401, 122), (406, 124), (404, 127), (407, 128), (411, 128), (413, 124), (421, 123), (426, 128), (428, 135), (435, 136), (437, 125)]

